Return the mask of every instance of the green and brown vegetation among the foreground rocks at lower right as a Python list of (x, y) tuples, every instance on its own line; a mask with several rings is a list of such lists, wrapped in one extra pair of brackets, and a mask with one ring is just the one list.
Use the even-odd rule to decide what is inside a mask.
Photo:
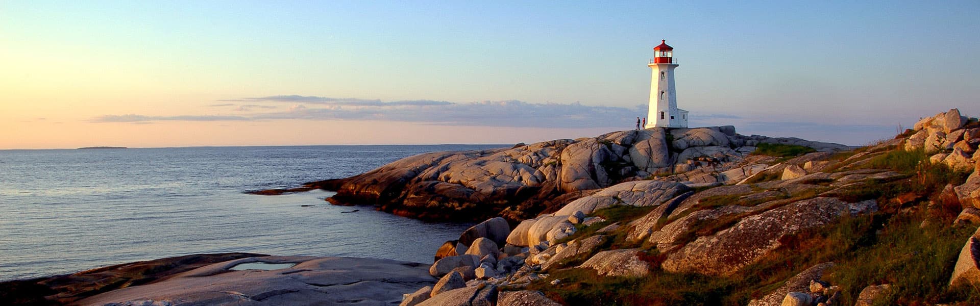
[[(802, 153), (799, 153), (802, 154)], [(840, 156), (846, 159), (852, 154)], [(675, 274), (659, 269), (665, 255), (648, 245), (624, 241), (627, 229), (611, 233), (605, 249), (640, 247), (641, 259), (651, 264), (644, 278), (599, 277), (588, 269), (549, 271), (551, 278), (532, 282), (531, 289), (568, 305), (745, 305), (760, 298), (803, 270), (823, 262), (835, 262), (824, 273), (824, 280), (840, 285), (842, 305), (852, 305), (867, 285), (890, 283), (893, 292), (882, 305), (927, 305), (960, 303), (980, 305), (980, 288), (969, 285), (949, 287), (959, 250), (974, 227), (952, 228), (960, 211), (955, 196), (942, 194), (947, 184), (960, 184), (966, 173), (945, 165), (933, 165), (921, 151), (892, 150), (872, 157), (860, 168), (888, 169), (902, 174), (898, 178), (868, 179), (863, 183), (835, 190), (832, 196), (848, 202), (875, 199), (881, 212), (844, 217), (822, 229), (813, 229), (780, 238), (780, 247), (757, 263), (729, 277)], [(809, 183), (826, 185), (830, 181)], [(814, 188), (805, 194), (748, 200), (740, 195), (711, 196), (699, 202), (700, 209), (723, 205), (759, 205), (768, 200), (787, 203), (816, 196), (827, 188)], [(757, 190), (757, 192), (762, 190)], [(934, 203), (935, 205), (930, 205)], [(780, 205), (780, 203), (775, 203)], [(613, 222), (635, 220), (651, 208), (614, 207), (602, 210), (609, 221), (601, 226), (579, 230), (575, 236), (594, 234)], [(696, 211), (696, 210), (691, 210)], [(690, 212), (688, 212), (690, 213)], [(683, 216), (670, 216), (669, 221)], [(741, 220), (731, 216), (696, 224), (687, 241), (711, 234)], [(668, 220), (660, 221), (665, 224)], [(926, 221), (926, 226), (920, 227)], [(591, 229), (595, 228), (595, 229)], [(585, 257), (573, 261), (584, 261)], [(558, 284), (550, 281), (560, 279)]]

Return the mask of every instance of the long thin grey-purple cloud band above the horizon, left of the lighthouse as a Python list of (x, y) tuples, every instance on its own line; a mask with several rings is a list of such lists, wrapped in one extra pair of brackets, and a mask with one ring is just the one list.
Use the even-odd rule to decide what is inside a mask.
[[(93, 119), (97, 123), (133, 123), (153, 121), (268, 121), (268, 120), (381, 120), (446, 126), (528, 127), (528, 128), (600, 128), (631, 127), (642, 106), (588, 106), (581, 103), (528, 103), (523, 101), (482, 101), (452, 103), (433, 100), (383, 102), (357, 98), (326, 98), (281, 95), (261, 98), (233, 99), (252, 104), (216, 104), (235, 107), (269, 109), (264, 102), (291, 102), (289, 110), (251, 114), (248, 116), (145, 116), (105, 115)], [(227, 101), (227, 100), (225, 100)], [(244, 108), (243, 108), (244, 107)]]

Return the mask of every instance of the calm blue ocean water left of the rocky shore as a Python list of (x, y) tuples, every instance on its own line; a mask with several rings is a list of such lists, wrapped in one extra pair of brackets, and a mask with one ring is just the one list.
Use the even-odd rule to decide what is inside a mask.
[(244, 191), (345, 178), (424, 152), (500, 146), (0, 150), (0, 280), (217, 252), (431, 263), (442, 242), (471, 224), (332, 206), (327, 191)]

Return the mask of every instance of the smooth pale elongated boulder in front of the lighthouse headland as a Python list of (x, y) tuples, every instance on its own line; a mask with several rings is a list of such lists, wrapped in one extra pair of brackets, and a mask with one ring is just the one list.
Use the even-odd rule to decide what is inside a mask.
[(615, 184), (593, 195), (568, 203), (555, 213), (568, 216), (580, 211), (590, 215), (596, 210), (613, 205), (656, 206), (691, 190), (685, 184), (662, 180), (634, 180)]

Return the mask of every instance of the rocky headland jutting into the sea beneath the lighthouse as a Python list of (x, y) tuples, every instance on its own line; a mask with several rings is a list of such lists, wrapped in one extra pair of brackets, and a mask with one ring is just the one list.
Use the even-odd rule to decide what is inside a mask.
[(589, 190), (652, 175), (687, 183), (736, 182), (760, 170), (760, 164), (747, 164), (745, 158), (761, 142), (847, 149), (799, 138), (745, 136), (732, 127), (648, 128), (513, 148), (426, 153), (351, 178), (255, 193), (322, 188), (337, 191), (327, 199), (333, 204), (375, 205), (419, 219), (476, 221), (501, 215), (518, 221)]

